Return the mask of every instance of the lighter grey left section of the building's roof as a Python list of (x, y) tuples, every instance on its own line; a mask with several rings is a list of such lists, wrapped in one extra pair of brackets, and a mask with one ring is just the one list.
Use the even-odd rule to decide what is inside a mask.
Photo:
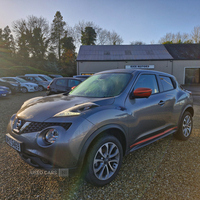
[(172, 60), (164, 45), (84, 45), (77, 61)]

